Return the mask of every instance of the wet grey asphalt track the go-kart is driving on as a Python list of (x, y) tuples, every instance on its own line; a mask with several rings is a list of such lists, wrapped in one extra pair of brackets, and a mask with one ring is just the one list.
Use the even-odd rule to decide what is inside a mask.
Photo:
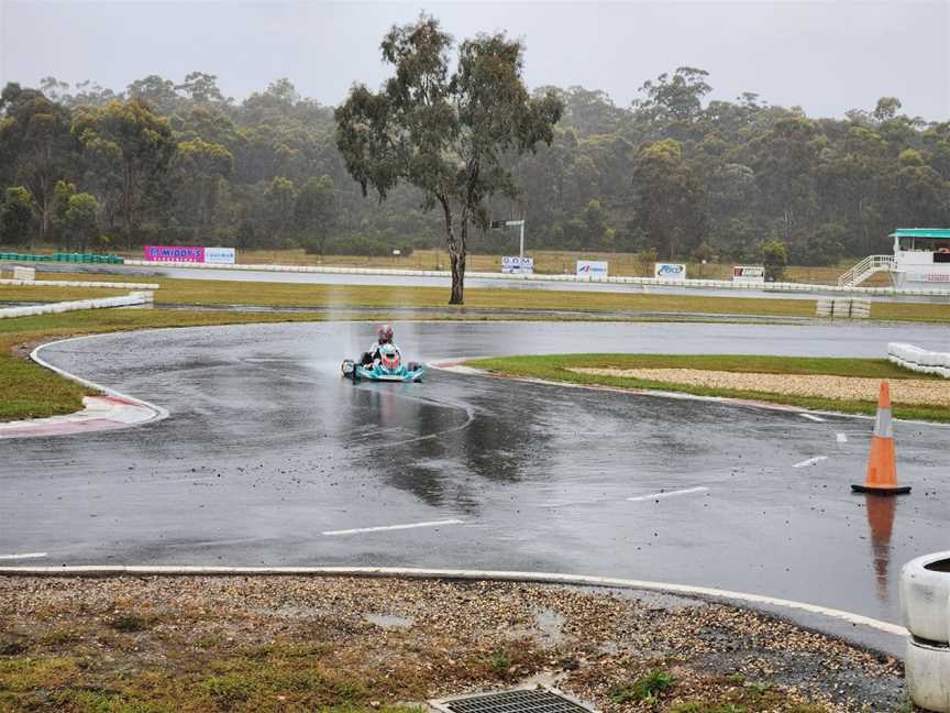
[[(897, 339), (946, 348), (946, 334), (880, 325), (397, 326), (407, 356), (427, 360), (880, 355)], [(371, 339), (365, 323), (256, 325), (44, 349), (55, 365), (172, 416), (92, 437), (0, 441), (0, 556), (561, 571), (719, 586), (896, 622), (901, 563), (948, 547), (950, 429), (898, 424), (899, 472), (914, 493), (865, 501), (849, 486), (863, 478), (866, 419), (817, 423), (444, 372), (416, 385), (342, 381), (342, 356)], [(708, 490), (643, 497), (687, 489)], [(324, 534), (439, 520), (461, 523)]]

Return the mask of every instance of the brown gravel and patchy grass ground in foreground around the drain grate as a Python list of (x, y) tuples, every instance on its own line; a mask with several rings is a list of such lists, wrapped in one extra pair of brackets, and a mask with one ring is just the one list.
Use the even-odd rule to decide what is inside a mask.
[[(674, 684), (636, 699), (636, 681), (651, 671)], [(99, 691), (168, 710), (375, 709), (532, 680), (607, 713), (905, 701), (893, 658), (664, 594), (396, 579), (0, 578), (3, 711), (84, 710), (63, 701)]]

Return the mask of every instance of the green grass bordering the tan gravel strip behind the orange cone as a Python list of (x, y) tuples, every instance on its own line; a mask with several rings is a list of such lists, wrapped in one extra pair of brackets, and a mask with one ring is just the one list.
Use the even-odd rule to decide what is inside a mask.
[[(478, 359), (466, 362), (470, 366), (484, 369), (506, 376), (543, 379), (573, 384), (614, 386), (619, 388), (648, 388), (682, 392), (698, 396), (721, 396), (800, 406), (814, 410), (830, 410), (844, 414), (873, 415), (877, 404), (873, 401), (854, 401), (830, 397), (806, 397), (775, 394), (765, 391), (704, 387), (693, 384), (675, 384), (629, 376), (582, 374), (573, 369), (697, 369), (758, 374), (810, 374), (822, 376), (864, 376), (886, 380), (938, 380), (936, 376), (910, 373), (884, 359), (825, 359), (800, 356), (747, 356), (747, 355), (673, 355), (673, 354), (557, 354), (549, 356), (506, 356)], [(950, 421), (950, 409), (894, 402), (897, 418), (931, 421)]]

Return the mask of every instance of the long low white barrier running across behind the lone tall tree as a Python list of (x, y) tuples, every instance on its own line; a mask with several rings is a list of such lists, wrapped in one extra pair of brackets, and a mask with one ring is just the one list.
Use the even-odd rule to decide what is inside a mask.
[[(329, 267), (324, 265), (264, 265), (264, 264), (206, 264), (185, 262), (147, 262), (126, 260), (126, 265), (136, 267), (180, 267), (188, 270), (231, 270), (244, 272), (286, 272), (313, 273), (325, 275), (391, 275), (397, 277), (451, 277), (445, 270), (389, 270), (385, 267)], [(644, 287), (693, 287), (697, 289), (733, 289), (744, 292), (782, 293), (837, 293), (844, 295), (882, 295), (913, 297), (946, 297), (950, 300), (950, 289), (896, 289), (894, 287), (839, 287), (837, 285), (808, 285), (804, 283), (734, 283), (729, 279), (662, 279), (659, 277), (581, 277), (578, 275), (544, 275), (520, 273), (466, 272), (466, 277), (515, 282), (571, 282), (605, 283), (611, 285), (642, 285)]]

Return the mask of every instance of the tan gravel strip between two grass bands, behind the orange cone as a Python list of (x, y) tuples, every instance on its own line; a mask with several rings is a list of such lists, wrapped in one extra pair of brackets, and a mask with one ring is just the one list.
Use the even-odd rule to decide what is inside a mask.
[[(842, 401), (877, 401), (880, 379), (863, 376), (822, 376), (813, 374), (752, 374), (703, 369), (570, 369), (577, 374), (641, 379), (666, 384), (708, 388), (758, 391), (787, 396), (814, 396)], [(895, 379), (891, 398), (916, 406), (950, 406), (950, 381)]]

